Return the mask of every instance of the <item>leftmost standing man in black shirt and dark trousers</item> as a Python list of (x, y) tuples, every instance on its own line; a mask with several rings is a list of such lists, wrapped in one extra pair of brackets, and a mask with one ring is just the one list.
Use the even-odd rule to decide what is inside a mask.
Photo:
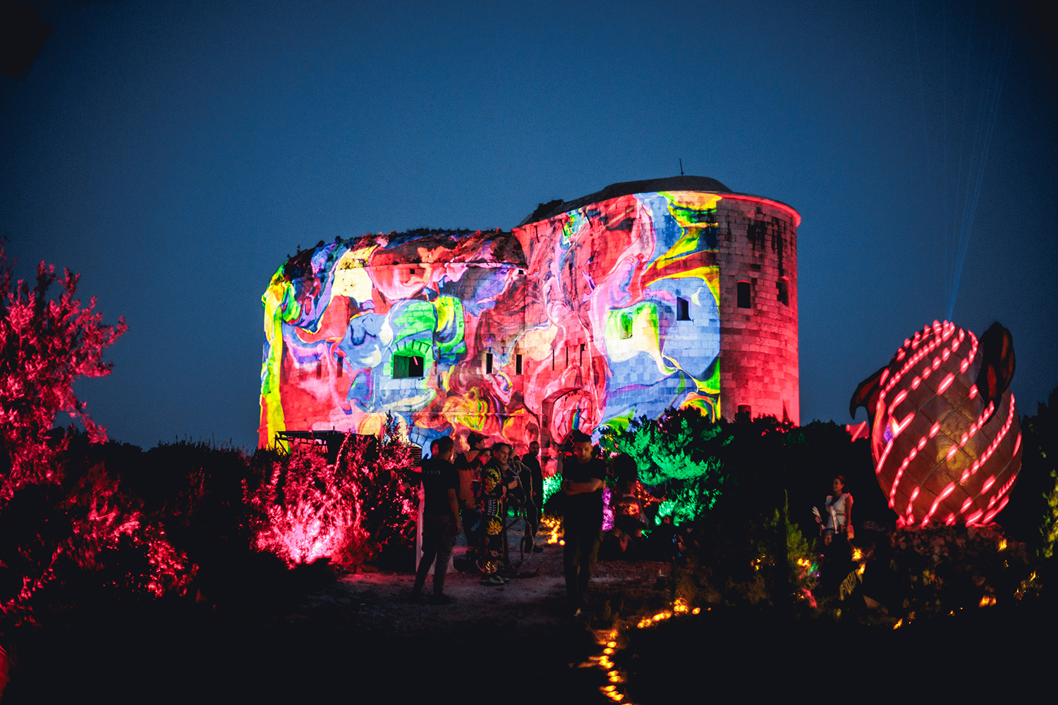
[(415, 572), (415, 585), (412, 587), (412, 598), (422, 596), (422, 586), (426, 582), (430, 564), (437, 559), (434, 567), (434, 594), (430, 598), (433, 605), (450, 605), (452, 598), (444, 594), (444, 574), (449, 570), (449, 559), (452, 558), (452, 546), (459, 534), (459, 503), (456, 493), (459, 490), (459, 474), (452, 458), (455, 454), (455, 444), (445, 437), (437, 440), (437, 457), (422, 464), (422, 488), (425, 494), (425, 504), (422, 509), (422, 558), (419, 569)]

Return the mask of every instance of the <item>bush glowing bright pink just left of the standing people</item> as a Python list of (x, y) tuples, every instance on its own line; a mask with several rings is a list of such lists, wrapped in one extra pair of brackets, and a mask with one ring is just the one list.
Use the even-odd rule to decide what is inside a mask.
[(417, 504), (402, 471), (412, 463), (394, 418), (378, 438), (347, 435), (333, 464), (323, 446), (295, 445), (256, 488), (244, 485), (245, 502), (261, 517), (257, 548), (290, 567), (329, 558), (354, 568), (409, 544)]

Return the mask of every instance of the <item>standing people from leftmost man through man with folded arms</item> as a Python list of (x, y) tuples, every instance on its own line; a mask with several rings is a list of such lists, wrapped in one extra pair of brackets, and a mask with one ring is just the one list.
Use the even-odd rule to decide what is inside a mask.
[[(477, 546), (481, 585), (506, 583), (510, 567), (506, 522), (510, 506), (521, 508), (525, 517), (524, 549), (543, 551), (532, 541), (544, 498), (540, 444), (533, 441), (529, 452), (518, 459), (510, 444), (486, 447), (485, 440), (471, 433), (467, 439), (469, 450), (456, 456), (451, 438), (438, 439), (431, 448), (431, 458), (422, 463), (425, 495), (422, 558), (412, 588), (415, 600), (422, 598), (430, 565), (436, 559), (431, 602), (452, 601), (444, 595), (444, 576), (460, 531), (466, 534), (469, 546)], [(606, 465), (594, 457), (591, 437), (587, 433), (573, 433), (571, 451), (568, 457), (560, 453), (558, 471), (563, 478), (566, 591), (571, 610), (579, 614), (599, 555)]]

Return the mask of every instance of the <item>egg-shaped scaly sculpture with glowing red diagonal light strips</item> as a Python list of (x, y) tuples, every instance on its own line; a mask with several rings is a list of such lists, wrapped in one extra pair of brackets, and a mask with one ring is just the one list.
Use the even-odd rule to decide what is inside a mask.
[(986, 524), (1010, 498), (1021, 469), (1014, 341), (993, 323), (978, 338), (933, 321), (904, 341), (889, 365), (860, 383), (850, 403), (869, 421), (878, 484), (898, 526)]

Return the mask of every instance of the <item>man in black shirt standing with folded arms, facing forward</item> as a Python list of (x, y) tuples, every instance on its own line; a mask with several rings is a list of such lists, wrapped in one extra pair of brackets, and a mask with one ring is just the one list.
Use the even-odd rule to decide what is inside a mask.
[(602, 487), (606, 464), (591, 457), (591, 437), (573, 434), (573, 454), (563, 459), (562, 491), (566, 495), (562, 525), (566, 541), (563, 563), (566, 595), (574, 615), (580, 615), (596, 558), (602, 540)]

